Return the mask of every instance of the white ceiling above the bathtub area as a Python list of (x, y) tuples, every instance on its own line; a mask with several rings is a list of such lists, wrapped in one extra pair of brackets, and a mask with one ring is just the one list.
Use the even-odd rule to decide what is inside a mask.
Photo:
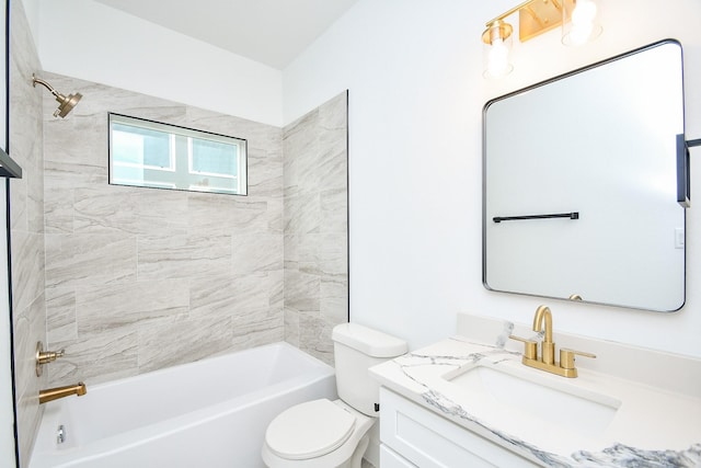
[(281, 70), (358, 0), (95, 0)]

